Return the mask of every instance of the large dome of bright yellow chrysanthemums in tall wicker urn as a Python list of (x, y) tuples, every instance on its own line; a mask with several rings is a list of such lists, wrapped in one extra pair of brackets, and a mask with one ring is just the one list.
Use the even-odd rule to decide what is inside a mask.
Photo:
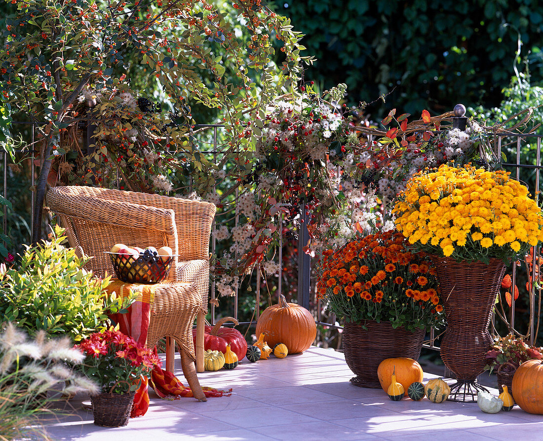
[(543, 240), (540, 207), (501, 170), (426, 170), (409, 180), (393, 213), (415, 249), (457, 261), (507, 262)]

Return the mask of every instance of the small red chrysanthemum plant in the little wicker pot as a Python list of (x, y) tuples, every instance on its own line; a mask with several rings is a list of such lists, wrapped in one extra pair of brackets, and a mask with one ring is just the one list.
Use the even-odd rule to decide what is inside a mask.
[(150, 376), (159, 358), (133, 338), (110, 329), (95, 332), (75, 345), (85, 354), (81, 371), (105, 393), (125, 394), (136, 390), (142, 375)]

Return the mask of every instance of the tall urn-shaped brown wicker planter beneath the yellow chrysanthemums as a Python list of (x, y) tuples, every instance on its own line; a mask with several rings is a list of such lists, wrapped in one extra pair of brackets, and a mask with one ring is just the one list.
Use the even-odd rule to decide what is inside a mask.
[(482, 373), (484, 356), (492, 344), (488, 326), (506, 266), (498, 259), (487, 265), (431, 257), (447, 320), (441, 359), (458, 381), (473, 382)]

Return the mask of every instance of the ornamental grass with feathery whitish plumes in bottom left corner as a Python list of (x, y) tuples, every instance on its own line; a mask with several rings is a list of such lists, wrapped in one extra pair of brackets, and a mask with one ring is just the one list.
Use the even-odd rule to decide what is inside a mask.
[(70, 383), (64, 389), (66, 394), (96, 393), (94, 383), (65, 366), (82, 360), (69, 338), (47, 340), (42, 331), (30, 340), (8, 324), (0, 334), (0, 438), (29, 439), (30, 434), (39, 434), (36, 417), (52, 401), (47, 390), (59, 381)]

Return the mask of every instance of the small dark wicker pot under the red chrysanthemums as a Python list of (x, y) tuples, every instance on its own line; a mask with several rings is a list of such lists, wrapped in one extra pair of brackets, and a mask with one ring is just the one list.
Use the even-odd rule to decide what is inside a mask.
[(102, 427), (126, 426), (135, 394), (136, 392), (91, 395), (94, 424)]

